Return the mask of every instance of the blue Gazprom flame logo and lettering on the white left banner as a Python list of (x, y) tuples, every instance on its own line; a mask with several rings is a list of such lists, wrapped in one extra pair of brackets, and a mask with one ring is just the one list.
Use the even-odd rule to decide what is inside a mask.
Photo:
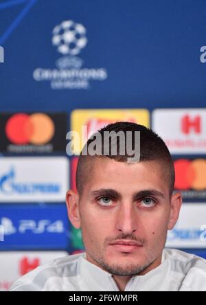
[(15, 181), (15, 170), (10, 171), (0, 177), (0, 192), (3, 194), (58, 194), (60, 185), (58, 183), (37, 183)]

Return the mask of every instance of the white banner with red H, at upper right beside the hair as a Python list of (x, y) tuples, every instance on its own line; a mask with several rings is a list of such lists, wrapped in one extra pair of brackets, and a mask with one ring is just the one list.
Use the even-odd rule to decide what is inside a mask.
[(152, 129), (172, 154), (205, 154), (206, 109), (156, 109)]

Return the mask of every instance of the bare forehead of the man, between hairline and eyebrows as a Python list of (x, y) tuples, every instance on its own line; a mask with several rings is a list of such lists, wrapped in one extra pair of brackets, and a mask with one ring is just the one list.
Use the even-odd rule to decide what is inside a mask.
[(110, 158), (94, 158), (90, 161), (87, 179), (84, 180), (86, 192), (113, 188), (119, 192), (156, 189), (166, 193), (168, 185), (165, 170), (157, 161), (126, 163)]

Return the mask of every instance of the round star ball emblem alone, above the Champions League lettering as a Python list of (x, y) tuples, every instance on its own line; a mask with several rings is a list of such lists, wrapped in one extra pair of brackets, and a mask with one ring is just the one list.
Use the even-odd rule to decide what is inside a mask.
[(72, 20), (63, 21), (53, 30), (52, 44), (63, 55), (77, 55), (87, 45), (86, 29)]

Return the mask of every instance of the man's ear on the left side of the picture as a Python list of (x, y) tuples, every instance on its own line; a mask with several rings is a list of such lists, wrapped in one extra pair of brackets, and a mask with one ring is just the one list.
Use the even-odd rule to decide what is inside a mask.
[(69, 216), (69, 221), (76, 229), (80, 229), (80, 210), (79, 210), (79, 195), (73, 190), (69, 190), (66, 195), (67, 202), (67, 212)]

